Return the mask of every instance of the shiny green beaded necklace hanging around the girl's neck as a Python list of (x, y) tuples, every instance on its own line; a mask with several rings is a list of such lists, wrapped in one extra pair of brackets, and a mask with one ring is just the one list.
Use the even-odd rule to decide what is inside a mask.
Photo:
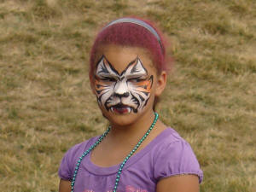
[[(127, 160), (129, 160), (129, 158), (131, 157), (132, 154), (135, 153), (135, 151), (137, 150), (137, 148), (139, 148), (139, 146), (143, 143), (143, 141), (148, 137), (148, 134), (150, 131), (152, 131), (152, 129), (154, 128), (154, 125), (158, 119), (158, 113), (154, 113), (154, 121), (152, 123), (152, 125), (150, 125), (148, 131), (145, 133), (145, 135), (140, 139), (140, 141), (137, 143), (137, 145), (131, 150), (130, 154), (128, 154), (126, 157), (125, 157), (125, 160), (122, 162), (121, 166), (119, 167), (119, 172), (117, 173), (117, 176), (116, 176), (116, 179), (115, 179), (115, 184), (114, 184), (114, 187), (113, 187), (113, 192), (116, 192), (117, 191), (117, 188), (119, 186), (119, 179), (120, 179), (120, 176), (121, 176), (121, 172), (123, 171), (123, 168), (125, 166), (125, 163), (127, 162)], [(86, 150), (84, 152), (84, 154), (82, 154), (82, 156), (79, 157), (79, 160), (78, 160), (78, 163), (77, 163), (77, 166), (75, 167), (75, 171), (73, 173), (73, 179), (72, 179), (72, 183), (71, 183), (71, 192), (73, 192), (73, 189), (74, 189), (74, 183), (76, 181), (76, 177), (77, 177), (77, 174), (79, 172), (79, 166), (81, 164), (81, 161), (84, 159), (84, 157), (90, 153), (90, 151), (93, 149), (93, 148), (96, 148), (96, 146), (102, 142), (103, 138), (106, 137), (108, 135), (108, 132), (110, 131), (111, 129), (111, 126), (108, 126), (108, 130), (105, 131), (102, 136), (96, 141), (96, 143), (92, 144), (90, 146), (90, 148), (88, 150)]]

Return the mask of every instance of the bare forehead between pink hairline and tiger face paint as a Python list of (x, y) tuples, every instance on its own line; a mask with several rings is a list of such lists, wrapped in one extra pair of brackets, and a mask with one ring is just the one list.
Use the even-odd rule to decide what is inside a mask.
[(142, 62), (143, 67), (147, 69), (148, 74), (155, 73), (152, 60), (145, 49), (108, 44), (103, 45), (100, 52), (118, 73), (122, 73), (129, 63), (134, 61), (137, 57)]

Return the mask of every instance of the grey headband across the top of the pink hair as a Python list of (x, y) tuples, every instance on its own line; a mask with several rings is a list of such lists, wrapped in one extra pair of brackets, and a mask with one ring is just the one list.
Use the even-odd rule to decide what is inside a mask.
[(145, 29), (147, 29), (149, 32), (151, 32), (154, 37), (157, 39), (158, 43), (160, 44), (160, 48), (162, 50), (162, 52), (164, 53), (164, 47), (161, 43), (161, 39), (159, 34), (154, 30), (154, 28), (152, 26), (149, 26), (148, 23), (144, 22), (143, 20), (137, 20), (134, 18), (121, 18), (118, 20), (113, 20), (110, 23), (108, 23), (107, 26), (103, 27), (102, 31), (106, 28), (108, 28), (108, 26), (112, 26), (114, 24), (118, 24), (118, 23), (133, 23), (133, 24), (137, 24), (138, 26), (143, 26)]

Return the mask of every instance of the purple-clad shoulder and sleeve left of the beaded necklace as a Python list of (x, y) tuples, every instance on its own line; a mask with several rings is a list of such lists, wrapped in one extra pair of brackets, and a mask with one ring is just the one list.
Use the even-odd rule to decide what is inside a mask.
[(79, 160), (79, 157), (84, 153), (84, 151), (89, 148), (90, 143), (96, 140), (96, 137), (92, 137), (83, 143), (78, 143), (72, 148), (69, 148), (64, 154), (61, 160), (61, 166), (59, 167), (59, 177), (65, 180), (71, 180), (73, 177), (74, 167)]

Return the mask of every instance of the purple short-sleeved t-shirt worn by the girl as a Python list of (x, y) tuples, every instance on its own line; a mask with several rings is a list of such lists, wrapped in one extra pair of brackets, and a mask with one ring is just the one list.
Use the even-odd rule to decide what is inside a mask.
[[(61, 161), (59, 176), (72, 180), (79, 157), (98, 137), (70, 148)], [(112, 192), (119, 165), (96, 166), (90, 154), (84, 157), (76, 177), (74, 192)], [(157, 182), (164, 177), (195, 174), (201, 183), (203, 174), (195, 154), (182, 137), (167, 128), (151, 143), (131, 156), (126, 162), (119, 180), (119, 192), (154, 192)]]

